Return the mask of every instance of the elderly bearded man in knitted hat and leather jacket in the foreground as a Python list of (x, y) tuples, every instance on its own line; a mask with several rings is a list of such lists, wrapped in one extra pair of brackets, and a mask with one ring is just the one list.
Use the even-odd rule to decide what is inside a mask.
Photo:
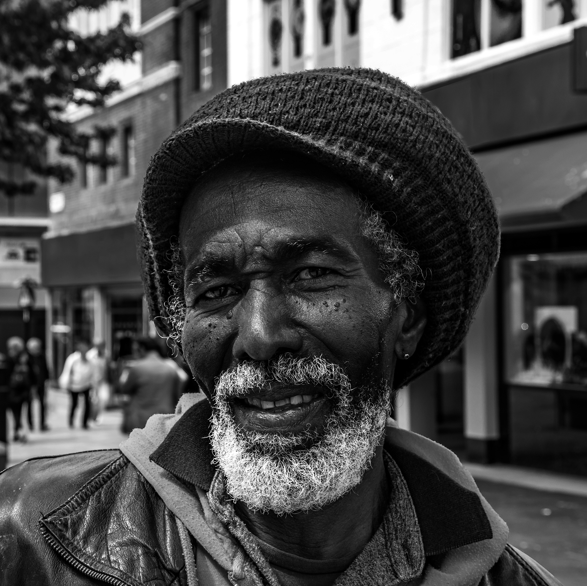
[(454, 454), (388, 425), (497, 262), (450, 123), (383, 73), (232, 87), (151, 161), (151, 315), (204, 395), (0, 477), (5, 584), (557, 584)]

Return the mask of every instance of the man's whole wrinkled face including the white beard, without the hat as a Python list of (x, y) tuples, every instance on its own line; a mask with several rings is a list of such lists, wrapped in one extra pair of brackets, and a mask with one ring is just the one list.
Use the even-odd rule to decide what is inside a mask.
[(278, 513), (338, 499), (380, 442), (406, 314), (352, 190), (303, 167), (225, 164), (185, 203), (180, 247), (184, 356), (211, 398), (228, 493)]

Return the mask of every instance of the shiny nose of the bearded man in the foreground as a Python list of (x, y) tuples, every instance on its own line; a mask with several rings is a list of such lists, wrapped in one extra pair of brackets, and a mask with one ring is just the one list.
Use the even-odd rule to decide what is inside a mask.
[(279, 293), (249, 289), (234, 318), (238, 334), (232, 355), (239, 362), (269, 360), (302, 347), (302, 336), (292, 323), (287, 300)]

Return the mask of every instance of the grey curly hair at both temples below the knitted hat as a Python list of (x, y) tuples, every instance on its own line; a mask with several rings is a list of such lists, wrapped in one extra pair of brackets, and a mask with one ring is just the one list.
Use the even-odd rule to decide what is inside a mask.
[[(359, 196), (356, 196), (356, 204), (360, 213), (360, 233), (376, 251), (379, 271), (392, 289), (394, 301), (397, 304), (405, 299), (415, 302), (424, 288), (424, 274), (418, 264), (418, 253), (407, 248), (382, 215)], [(167, 326), (169, 337), (180, 342), (185, 320), (184, 263), (177, 240), (171, 243), (167, 257), (171, 261), (171, 268), (166, 272), (173, 290), (167, 301)]]

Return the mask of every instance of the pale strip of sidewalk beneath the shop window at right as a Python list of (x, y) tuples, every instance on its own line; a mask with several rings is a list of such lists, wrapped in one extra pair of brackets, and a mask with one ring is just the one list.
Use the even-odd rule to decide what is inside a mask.
[(549, 493), (587, 497), (587, 478), (508, 464), (474, 464), (470, 462), (463, 462), (463, 464), (475, 480), (487, 480)]

